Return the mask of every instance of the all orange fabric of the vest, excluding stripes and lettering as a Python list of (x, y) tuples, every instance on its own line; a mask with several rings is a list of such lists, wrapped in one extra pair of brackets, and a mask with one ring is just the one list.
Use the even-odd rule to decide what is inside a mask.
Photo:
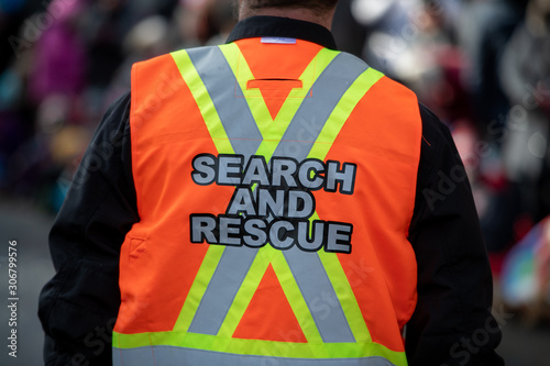
[[(256, 80), (297, 80), (321, 49), (302, 41), (237, 44)], [(290, 89), (285, 85), (272, 92), (262, 82), (255, 86), (264, 87), (263, 97), (276, 115)], [(131, 136), (141, 222), (122, 246), (116, 331), (169, 331), (208, 249), (206, 243), (190, 243), (189, 215), (226, 212), (234, 187), (191, 180), (193, 158), (218, 153), (169, 56), (133, 69)], [(354, 193), (314, 192), (321, 220), (353, 223), (352, 253), (338, 257), (373, 341), (394, 351), (404, 351), (402, 330), (416, 304), (416, 260), (406, 237), (420, 140), (416, 97), (383, 78), (360, 101), (324, 158), (358, 164)], [(234, 336), (288, 341), (279, 331), (292, 330), (299, 326), (270, 266)], [(304, 335), (293, 342), (305, 342)]]

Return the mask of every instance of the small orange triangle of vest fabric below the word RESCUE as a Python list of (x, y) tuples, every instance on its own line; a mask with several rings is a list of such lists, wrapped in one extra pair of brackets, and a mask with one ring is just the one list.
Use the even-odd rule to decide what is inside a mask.
[[(266, 309), (277, 309), (276, 326), (264, 321)], [(267, 267), (252, 301), (233, 333), (233, 337), (295, 343), (307, 342), (272, 265)]]

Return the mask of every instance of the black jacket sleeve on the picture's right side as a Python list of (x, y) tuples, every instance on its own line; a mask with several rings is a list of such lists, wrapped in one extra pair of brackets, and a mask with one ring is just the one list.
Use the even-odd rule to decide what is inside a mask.
[(418, 303), (406, 328), (410, 366), (504, 365), (493, 280), (468, 177), (447, 126), (424, 106), (409, 241)]

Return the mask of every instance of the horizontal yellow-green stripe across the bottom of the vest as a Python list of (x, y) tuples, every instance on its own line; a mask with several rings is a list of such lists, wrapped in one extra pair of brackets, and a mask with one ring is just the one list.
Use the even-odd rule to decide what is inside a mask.
[(371, 342), (358, 343), (290, 343), (258, 340), (226, 339), (196, 333), (140, 333), (120, 334), (113, 332), (114, 348), (151, 347), (156, 345), (205, 350), (241, 355), (289, 358), (362, 358), (382, 356), (394, 365), (407, 365), (404, 352), (395, 352)]

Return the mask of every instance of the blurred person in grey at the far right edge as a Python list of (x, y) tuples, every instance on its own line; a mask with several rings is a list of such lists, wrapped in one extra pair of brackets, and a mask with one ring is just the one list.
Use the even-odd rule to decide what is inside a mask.
[(521, 189), (535, 222), (550, 214), (550, 2), (531, 0), (501, 64), (513, 108), (504, 138), (508, 177)]

